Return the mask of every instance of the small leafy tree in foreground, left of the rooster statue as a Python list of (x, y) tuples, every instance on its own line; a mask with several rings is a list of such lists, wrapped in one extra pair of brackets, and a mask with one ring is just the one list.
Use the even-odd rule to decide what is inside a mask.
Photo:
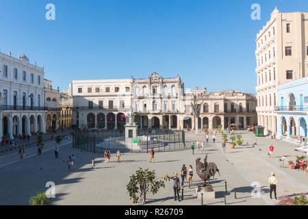
[[(165, 174), (162, 179), (156, 178), (155, 170), (143, 170), (138, 168), (134, 175), (131, 175), (129, 183), (126, 185), (127, 192), (133, 198), (133, 203), (138, 202), (138, 198), (143, 198), (146, 200), (146, 193), (151, 192), (155, 195), (159, 188), (164, 188), (164, 181), (168, 180), (168, 175)], [(139, 194), (139, 195), (138, 195)]]

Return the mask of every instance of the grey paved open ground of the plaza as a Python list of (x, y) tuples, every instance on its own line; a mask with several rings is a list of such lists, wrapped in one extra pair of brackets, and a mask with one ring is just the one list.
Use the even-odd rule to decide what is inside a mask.
[[(215, 199), (205, 199), (205, 205), (224, 205), (224, 183), (227, 181), (227, 205), (274, 205), (277, 203), (269, 198), (268, 177), (275, 172), (278, 180), (277, 195), (294, 195), (308, 192), (308, 174), (303, 171), (281, 167), (279, 158), (286, 156), (287, 160), (295, 161), (296, 145), (269, 137), (257, 138), (258, 146), (252, 147), (255, 137), (248, 131), (235, 131), (242, 134), (244, 145), (230, 149), (227, 144), (227, 153), (222, 152), (221, 136), (216, 143), (205, 143), (205, 151), (192, 155), (191, 149), (155, 153), (155, 163), (149, 163), (149, 154), (125, 153), (121, 162), (115, 162), (112, 154), (111, 162), (105, 164), (103, 154), (81, 152), (72, 148), (71, 140), (64, 140), (60, 144), (60, 156), (55, 159), (53, 153), (54, 142), (44, 146), (42, 155), (36, 155), (36, 149), (26, 149), (25, 159), (19, 159), (17, 153), (0, 157), (0, 205), (28, 205), (28, 200), (36, 192), (47, 190), (48, 181), (55, 183), (55, 198), (53, 205), (131, 205), (126, 185), (129, 176), (138, 167), (155, 170), (157, 176), (162, 177), (165, 172), (172, 175), (180, 172), (181, 166), (192, 165), (195, 170), (195, 160), (203, 159), (208, 154), (208, 162), (215, 162), (220, 170), (220, 176), (211, 179), (211, 185), (216, 192)], [(205, 141), (204, 134), (195, 136), (186, 134), (188, 145), (196, 140)], [(246, 144), (248, 142), (248, 144)], [(274, 146), (274, 158), (268, 157), (269, 144)], [(68, 155), (74, 154), (76, 162), (69, 172), (66, 166)], [(91, 159), (97, 160), (97, 170), (92, 170)], [(251, 183), (257, 182), (261, 187), (261, 196), (251, 196)], [(166, 187), (161, 188), (155, 196), (147, 195), (146, 205), (200, 205), (195, 195), (197, 185), (202, 183), (194, 172), (193, 185), (184, 188), (184, 200), (174, 201), (172, 182), (166, 181)], [(237, 198), (234, 198), (233, 188), (236, 188)], [(141, 203), (139, 202), (138, 205)]]

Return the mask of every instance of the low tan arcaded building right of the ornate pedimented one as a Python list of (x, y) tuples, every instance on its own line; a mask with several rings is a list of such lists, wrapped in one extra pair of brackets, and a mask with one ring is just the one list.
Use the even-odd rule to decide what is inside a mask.
[[(240, 90), (218, 90), (207, 93), (206, 88), (199, 90), (186, 90), (183, 105), (185, 105), (185, 116), (183, 127), (195, 129), (194, 116), (191, 104), (196, 99), (196, 103), (201, 105), (201, 112), (198, 118), (198, 129), (207, 127), (209, 130), (216, 129), (218, 125), (226, 129), (231, 124), (239, 128), (246, 128), (247, 125), (257, 124), (257, 114), (255, 108), (257, 99), (253, 94), (244, 94)], [(186, 119), (184, 119), (186, 117)]]

